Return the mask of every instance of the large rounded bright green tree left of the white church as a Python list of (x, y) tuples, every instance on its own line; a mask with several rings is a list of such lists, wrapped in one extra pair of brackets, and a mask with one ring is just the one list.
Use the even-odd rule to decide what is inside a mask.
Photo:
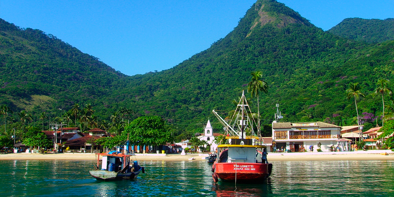
[(130, 125), (122, 132), (131, 144), (136, 145), (164, 145), (173, 142), (171, 132), (166, 131), (164, 120), (159, 116), (141, 116), (131, 121)]

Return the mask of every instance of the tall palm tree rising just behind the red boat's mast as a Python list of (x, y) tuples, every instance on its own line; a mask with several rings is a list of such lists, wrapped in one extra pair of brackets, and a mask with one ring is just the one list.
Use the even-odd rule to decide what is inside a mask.
[(251, 73), (252, 79), (248, 84), (248, 92), (250, 92), (251, 97), (257, 97), (257, 131), (259, 137), (260, 132), (260, 103), (259, 103), (259, 93), (268, 93), (268, 85), (261, 78), (263, 77), (262, 71), (254, 71)]

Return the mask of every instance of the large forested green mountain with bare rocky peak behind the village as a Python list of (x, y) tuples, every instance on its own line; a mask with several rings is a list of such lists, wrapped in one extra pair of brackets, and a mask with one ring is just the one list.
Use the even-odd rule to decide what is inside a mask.
[[(393, 79), (394, 41), (375, 45), (324, 32), (275, 0), (258, 0), (226, 37), (173, 68), (126, 76), (53, 35), (0, 23), (1, 103), (13, 110), (63, 108), (91, 103), (101, 119), (119, 107), (159, 115), (179, 129), (201, 129), (212, 109), (228, 112), (246, 91), (252, 71), (263, 71), (268, 94), (260, 96), (263, 124), (280, 104), (282, 121), (355, 124), (349, 83), (366, 95), (379, 78)], [(247, 94), (247, 93), (246, 93)], [(257, 111), (256, 98), (251, 99)], [(381, 98), (367, 97), (359, 111), (381, 115)], [(367, 121), (372, 121), (368, 119)]]

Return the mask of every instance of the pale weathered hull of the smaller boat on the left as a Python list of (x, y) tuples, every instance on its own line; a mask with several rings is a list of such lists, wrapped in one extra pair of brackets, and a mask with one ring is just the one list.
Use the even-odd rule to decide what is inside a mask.
[(122, 179), (135, 179), (140, 171), (136, 172), (128, 172), (128, 173), (120, 173), (115, 171), (107, 171), (107, 170), (90, 170), (89, 173), (94, 178), (99, 181), (114, 181), (114, 180), (122, 180)]

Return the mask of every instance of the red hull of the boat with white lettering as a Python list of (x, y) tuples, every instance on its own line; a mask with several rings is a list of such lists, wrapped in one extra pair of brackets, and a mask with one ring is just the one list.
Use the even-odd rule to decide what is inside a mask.
[(215, 163), (214, 165), (214, 174), (222, 181), (229, 182), (263, 182), (272, 170), (272, 164)]

